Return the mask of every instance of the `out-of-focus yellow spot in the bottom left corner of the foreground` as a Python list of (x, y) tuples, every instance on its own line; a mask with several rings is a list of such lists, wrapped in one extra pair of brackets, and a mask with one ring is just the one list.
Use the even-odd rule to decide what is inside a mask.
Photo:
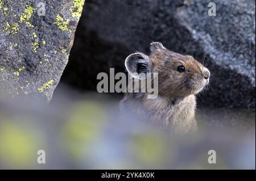
[(36, 153), (43, 145), (42, 136), (20, 122), (1, 120), (0, 163), (5, 169), (32, 169), (36, 165)]

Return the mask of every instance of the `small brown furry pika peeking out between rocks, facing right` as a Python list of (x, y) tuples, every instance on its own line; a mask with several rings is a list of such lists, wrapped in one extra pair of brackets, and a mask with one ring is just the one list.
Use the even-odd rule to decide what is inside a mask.
[(130, 54), (125, 67), (128, 73), (158, 73), (158, 96), (148, 99), (147, 91), (126, 93), (119, 103), (121, 112), (174, 132), (196, 131), (196, 94), (208, 85), (210, 71), (192, 56), (172, 52), (162, 43), (151, 43), (150, 50), (149, 56)]

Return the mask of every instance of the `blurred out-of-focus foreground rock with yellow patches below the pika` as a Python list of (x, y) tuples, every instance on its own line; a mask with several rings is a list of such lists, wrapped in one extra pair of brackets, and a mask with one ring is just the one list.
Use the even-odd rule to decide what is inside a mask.
[(202, 108), (198, 131), (175, 136), (109, 98), (60, 84), (47, 105), (0, 100), (0, 169), (255, 169), (255, 112)]

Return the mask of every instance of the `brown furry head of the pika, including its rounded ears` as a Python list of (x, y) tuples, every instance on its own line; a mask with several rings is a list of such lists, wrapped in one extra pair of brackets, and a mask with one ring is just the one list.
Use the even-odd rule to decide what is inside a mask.
[(141, 52), (130, 54), (125, 66), (129, 73), (158, 73), (159, 95), (195, 95), (208, 85), (210, 71), (192, 56), (172, 52), (159, 42), (151, 43), (150, 50), (150, 56)]

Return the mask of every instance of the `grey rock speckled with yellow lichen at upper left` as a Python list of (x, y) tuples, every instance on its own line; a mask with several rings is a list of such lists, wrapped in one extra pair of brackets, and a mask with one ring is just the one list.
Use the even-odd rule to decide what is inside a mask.
[(51, 99), (83, 5), (84, 0), (0, 0), (1, 95)]

